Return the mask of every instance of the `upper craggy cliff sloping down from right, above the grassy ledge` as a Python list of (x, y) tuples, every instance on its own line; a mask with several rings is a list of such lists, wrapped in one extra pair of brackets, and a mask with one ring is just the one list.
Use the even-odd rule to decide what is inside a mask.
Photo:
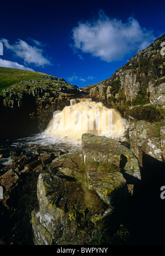
[(110, 79), (81, 88), (89, 97), (120, 109), (154, 104), (164, 107), (165, 34), (127, 61)]

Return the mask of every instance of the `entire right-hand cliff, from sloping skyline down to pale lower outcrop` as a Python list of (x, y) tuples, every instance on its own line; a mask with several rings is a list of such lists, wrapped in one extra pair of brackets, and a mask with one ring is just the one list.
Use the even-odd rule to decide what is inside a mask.
[(87, 97), (117, 108), (129, 121), (130, 148), (164, 161), (165, 34), (127, 61), (110, 79), (85, 86)]

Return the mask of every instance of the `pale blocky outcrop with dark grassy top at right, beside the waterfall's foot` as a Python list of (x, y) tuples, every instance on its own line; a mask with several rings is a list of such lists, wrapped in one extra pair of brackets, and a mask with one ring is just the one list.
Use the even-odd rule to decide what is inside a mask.
[[(141, 112), (142, 109), (144, 112)], [(164, 140), (161, 131), (165, 122), (164, 110), (160, 110), (162, 109), (153, 106), (143, 106), (134, 107), (130, 111), (128, 122), (130, 149), (138, 157), (140, 166), (143, 165), (143, 153), (164, 161)]]

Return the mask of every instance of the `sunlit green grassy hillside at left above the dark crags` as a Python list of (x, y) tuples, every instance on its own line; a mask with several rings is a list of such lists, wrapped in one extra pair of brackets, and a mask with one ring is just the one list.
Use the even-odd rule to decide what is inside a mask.
[(40, 80), (40, 77), (38, 76), (41, 75), (47, 74), (29, 70), (12, 69), (9, 67), (0, 67), (0, 92), (16, 83), (20, 83), (21, 80)]

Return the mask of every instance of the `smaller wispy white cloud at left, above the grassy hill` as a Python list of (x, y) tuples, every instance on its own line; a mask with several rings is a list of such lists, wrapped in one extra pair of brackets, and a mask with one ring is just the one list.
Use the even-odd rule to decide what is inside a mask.
[(24, 64), (33, 64), (35, 66), (51, 65), (51, 62), (43, 56), (43, 49), (38, 48), (41, 45), (40, 42), (35, 39), (31, 39), (35, 44), (33, 46), (21, 39), (18, 39), (13, 45), (9, 44), (7, 39), (3, 38), (1, 41), (7, 49), (13, 51), (15, 56), (23, 59)]

